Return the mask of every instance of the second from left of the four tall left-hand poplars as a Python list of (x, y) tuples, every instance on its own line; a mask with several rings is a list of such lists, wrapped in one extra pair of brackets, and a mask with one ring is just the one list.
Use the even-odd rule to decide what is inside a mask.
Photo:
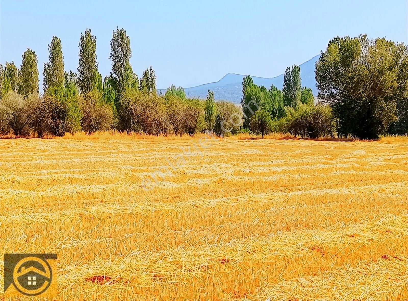
[(60, 89), (64, 87), (64, 57), (62, 56), (61, 40), (53, 37), (48, 45), (49, 62), (44, 63), (44, 92), (48, 89)]

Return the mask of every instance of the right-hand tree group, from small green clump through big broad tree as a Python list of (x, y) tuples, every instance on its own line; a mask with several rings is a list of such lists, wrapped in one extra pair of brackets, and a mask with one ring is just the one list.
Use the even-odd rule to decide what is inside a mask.
[(242, 82), (244, 128), (303, 137), (408, 133), (408, 48), (385, 39), (334, 38), (316, 63), (319, 101), (301, 89), (300, 69), (288, 68), (283, 90)]

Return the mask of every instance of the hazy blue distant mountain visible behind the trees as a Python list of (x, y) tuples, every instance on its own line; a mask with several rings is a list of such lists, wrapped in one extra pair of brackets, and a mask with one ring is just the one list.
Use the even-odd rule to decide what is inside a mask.
[[(315, 64), (319, 60), (320, 55), (308, 60), (300, 65), (300, 77), (302, 78), (302, 86), (306, 86), (312, 89), (313, 94), (317, 96), (316, 80), (315, 80)], [(228, 100), (238, 104), (242, 98), (242, 79), (246, 75), (228, 73), (218, 82), (211, 82), (208, 84), (202, 84), (191, 88), (184, 88), (188, 97), (206, 98), (207, 91), (214, 92), (215, 100)], [(271, 84), (274, 84), (277, 88), (283, 88), (283, 74), (277, 77), (265, 78), (251, 76), (253, 82), (259, 86), (263, 85), (266, 88), (270, 88)], [(166, 90), (159, 90), (163, 93)]]

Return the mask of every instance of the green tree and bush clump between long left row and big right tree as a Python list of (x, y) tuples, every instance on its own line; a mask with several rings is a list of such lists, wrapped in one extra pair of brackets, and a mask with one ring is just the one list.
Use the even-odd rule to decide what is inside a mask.
[(296, 65), (286, 69), (282, 91), (274, 85), (267, 90), (254, 84), (251, 76), (244, 77), (243, 128), (262, 137), (273, 131), (313, 138), (333, 135), (330, 107), (315, 105), (312, 90), (301, 87), (300, 68)]

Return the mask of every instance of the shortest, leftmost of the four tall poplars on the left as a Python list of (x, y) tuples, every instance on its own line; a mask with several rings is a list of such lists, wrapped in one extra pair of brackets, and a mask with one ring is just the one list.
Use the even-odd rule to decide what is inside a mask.
[(24, 97), (40, 92), (38, 89), (37, 55), (31, 49), (27, 49), (22, 55), (18, 82), (18, 93)]

